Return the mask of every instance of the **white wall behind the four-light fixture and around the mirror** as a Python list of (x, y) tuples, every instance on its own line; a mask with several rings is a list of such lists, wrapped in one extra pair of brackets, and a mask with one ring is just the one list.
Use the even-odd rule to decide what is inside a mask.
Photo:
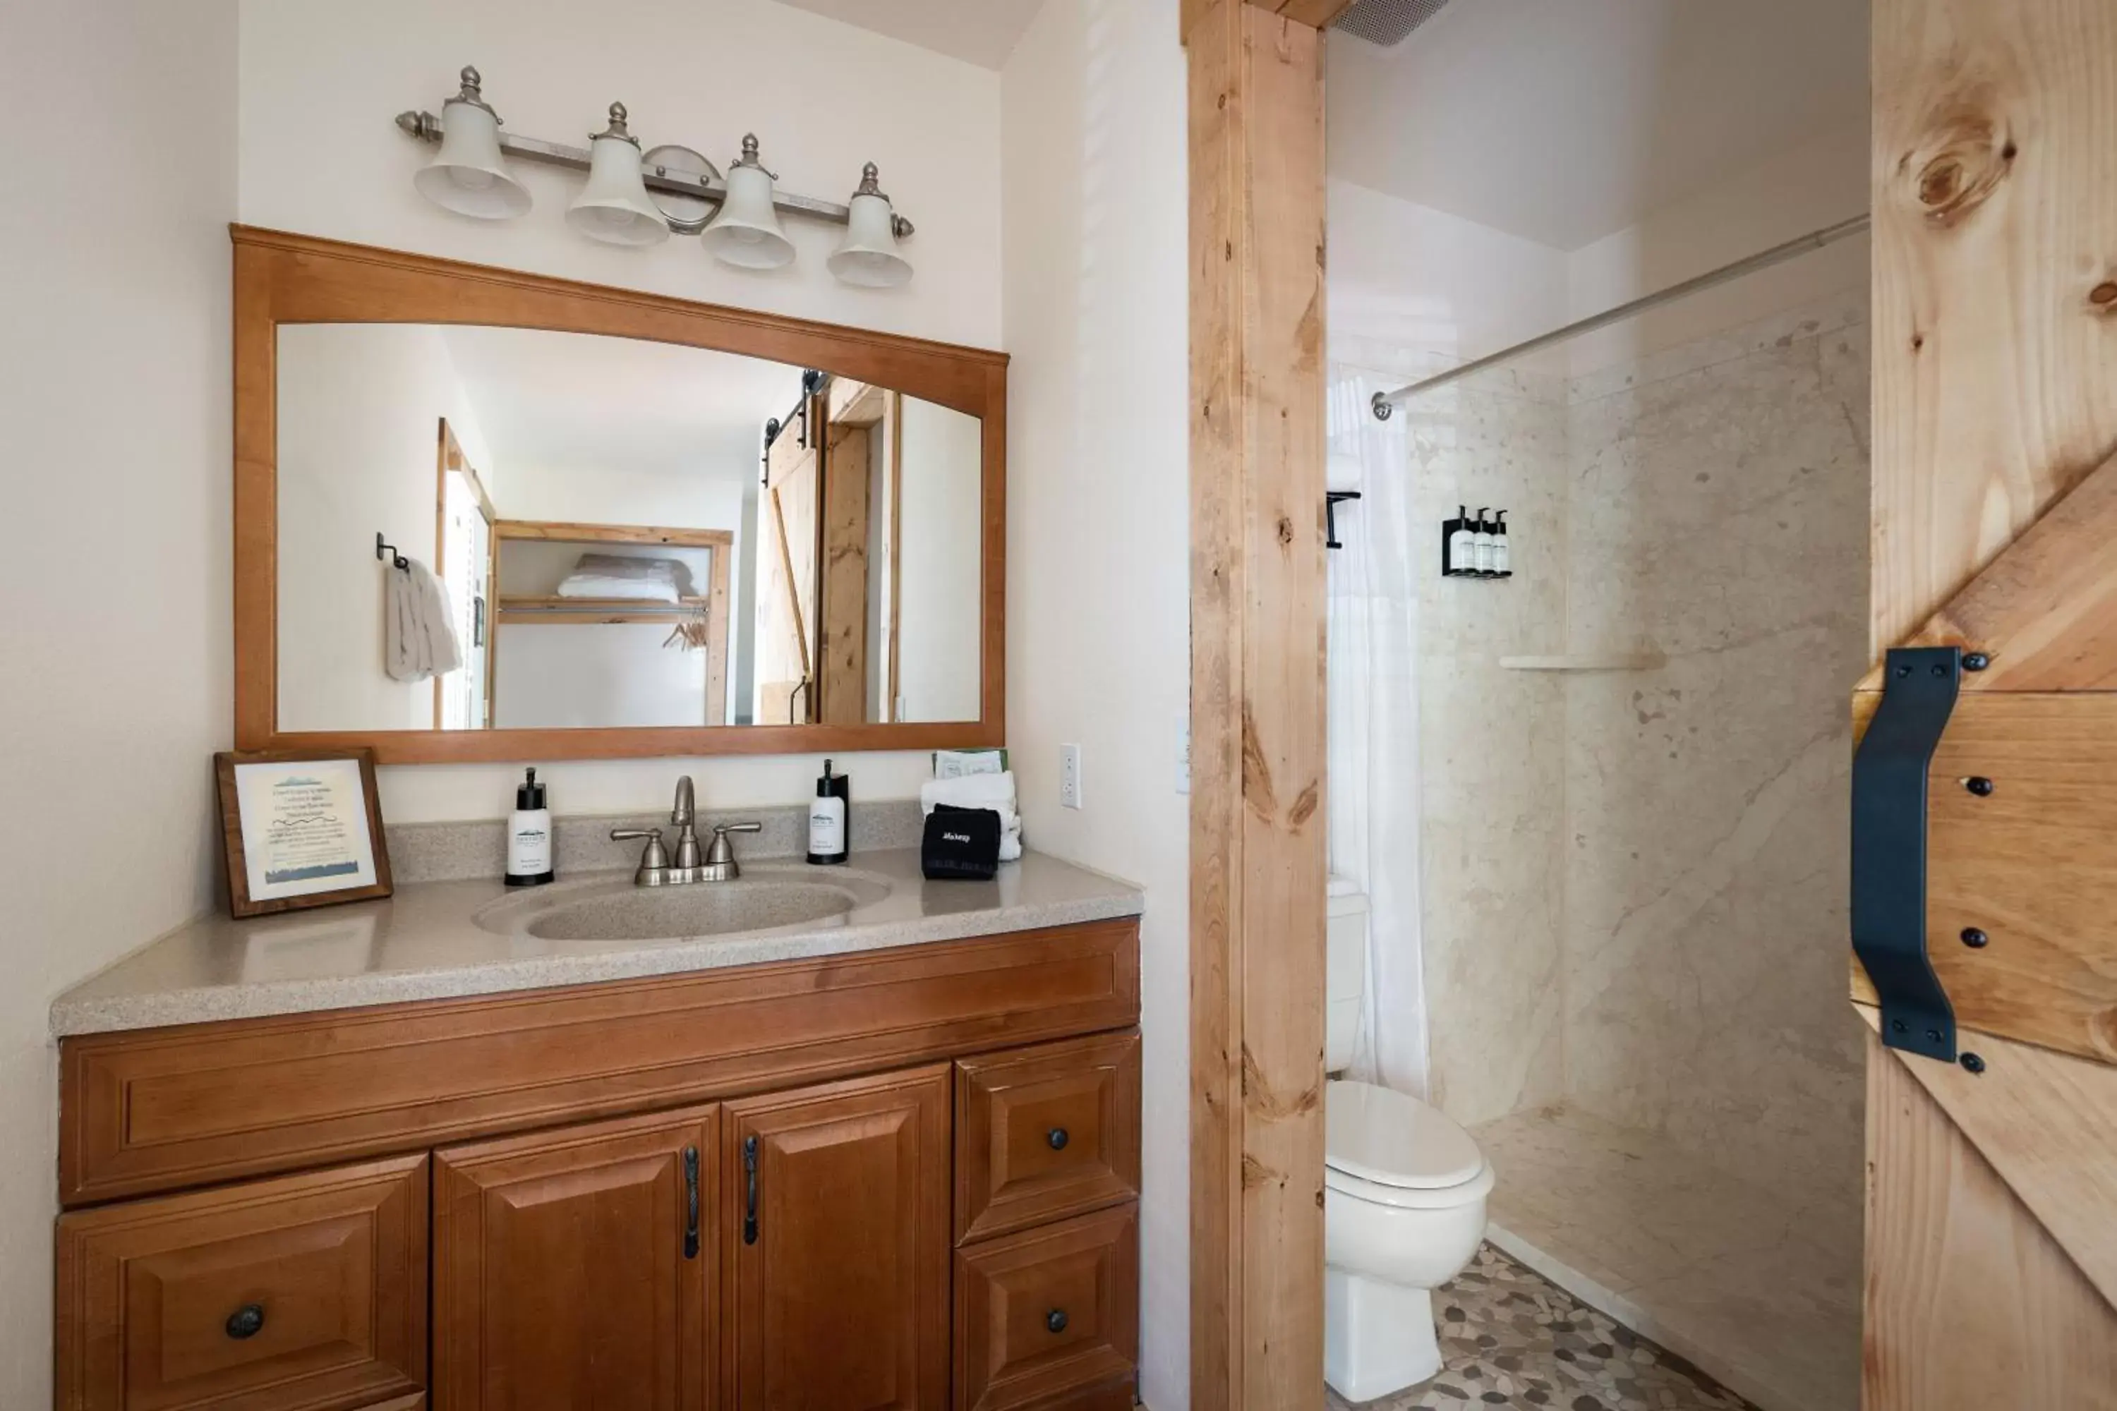
[[(576, 178), (527, 167), (536, 209), (485, 224), (428, 205), (411, 184), (432, 152), (392, 127), (438, 110), (476, 63), (510, 131), (578, 142), (612, 99), (648, 146), (713, 161), (756, 131), (790, 190), (851, 193), (860, 163), (919, 224), (904, 290), (836, 283), (836, 231), (788, 222), (800, 248), (771, 275), (716, 264), (696, 241), (614, 250), (563, 220)], [(798, 80), (796, 80), (798, 70)], [(396, 250), (504, 264), (836, 324), (999, 345), (999, 76), (768, 0), (629, 0), (586, 15), (559, 0), (241, 0), (241, 220)], [(813, 757), (538, 762), (561, 812), (667, 800), (680, 772), (709, 806), (807, 798)], [(862, 798), (902, 798), (923, 753), (840, 757)], [(392, 821), (506, 812), (517, 768), (385, 768)]]

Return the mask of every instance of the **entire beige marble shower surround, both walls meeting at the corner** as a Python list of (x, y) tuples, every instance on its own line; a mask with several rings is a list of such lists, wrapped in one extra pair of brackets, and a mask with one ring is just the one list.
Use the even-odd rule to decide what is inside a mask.
[[(1332, 351), (1404, 381), (1448, 366)], [(1410, 531), (1437, 556), (1459, 503), (1503, 506), (1516, 569), (1418, 578), (1433, 1100), (1469, 1125), (1567, 1102), (1857, 1221), (1865, 292), (1571, 381), (1501, 368), (1399, 415)], [(1641, 645), (1668, 664), (1499, 666)]]

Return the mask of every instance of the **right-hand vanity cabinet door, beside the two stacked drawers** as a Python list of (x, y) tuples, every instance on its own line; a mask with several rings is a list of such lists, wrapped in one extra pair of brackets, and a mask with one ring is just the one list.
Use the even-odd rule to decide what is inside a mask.
[(948, 1405), (948, 1068), (730, 1102), (730, 1405)]

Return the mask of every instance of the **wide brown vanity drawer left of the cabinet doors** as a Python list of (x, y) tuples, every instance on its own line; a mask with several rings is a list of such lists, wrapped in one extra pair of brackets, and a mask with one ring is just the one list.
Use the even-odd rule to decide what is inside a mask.
[(59, 1218), (61, 1411), (417, 1407), (426, 1157)]

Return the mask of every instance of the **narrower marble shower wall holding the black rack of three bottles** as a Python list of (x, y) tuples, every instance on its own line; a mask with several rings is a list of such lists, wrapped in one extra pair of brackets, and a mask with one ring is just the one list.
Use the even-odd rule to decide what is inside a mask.
[[(1450, 366), (1363, 338), (1334, 353), (1395, 381)], [(1499, 666), (1550, 652), (1564, 622), (1564, 391), (1560, 377), (1497, 368), (1397, 413), (1421, 565), (1429, 1096), (1467, 1125), (1564, 1094), (1564, 688)], [(1461, 503), (1507, 510), (1512, 580), (1440, 575), (1440, 525)]]

